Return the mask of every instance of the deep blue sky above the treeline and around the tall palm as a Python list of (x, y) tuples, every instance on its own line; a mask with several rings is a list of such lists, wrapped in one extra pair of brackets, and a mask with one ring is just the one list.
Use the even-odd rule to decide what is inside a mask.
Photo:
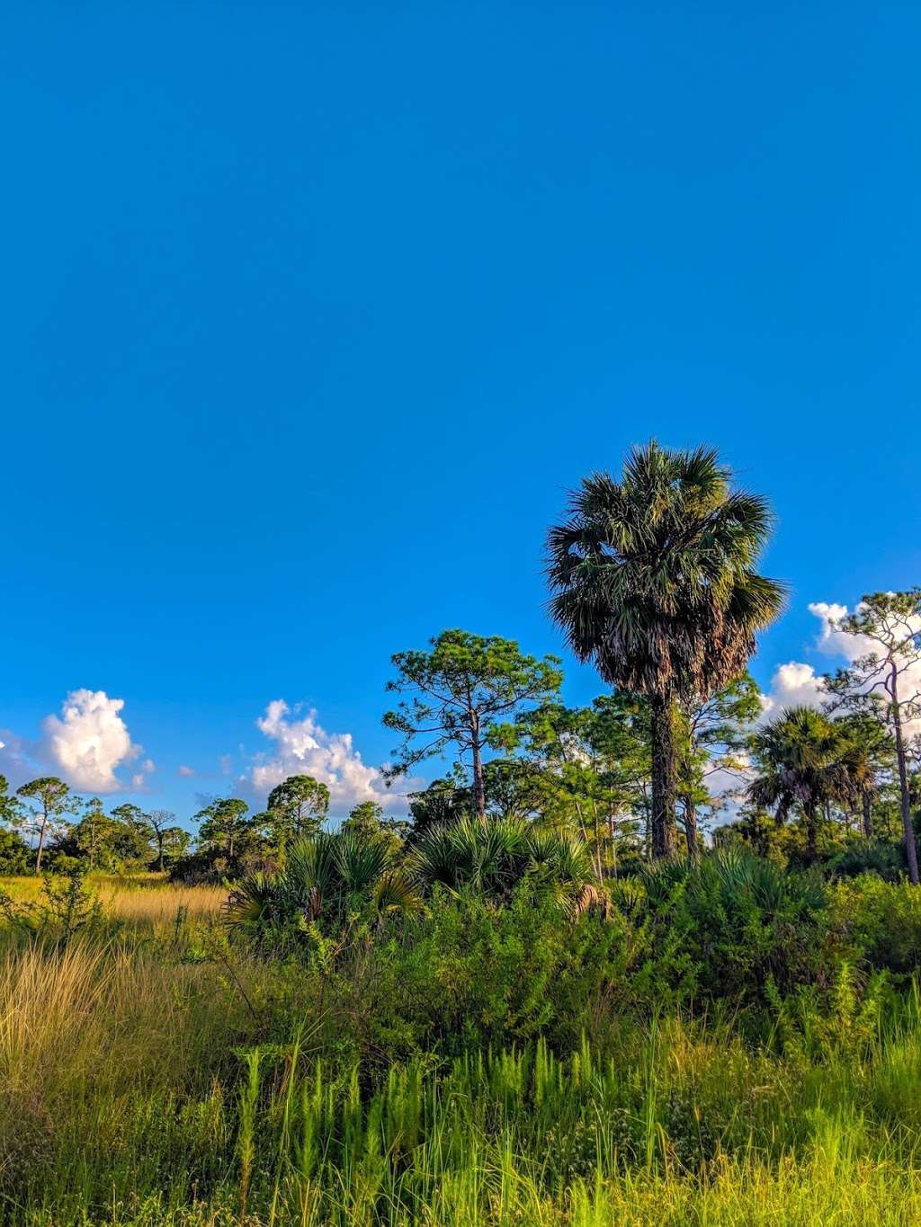
[(921, 579), (917, 6), (39, 0), (0, 48), (0, 771), (88, 736), (184, 817), (312, 736), (365, 787), (389, 655), (558, 650), (545, 526), (652, 434), (777, 510), (765, 686)]

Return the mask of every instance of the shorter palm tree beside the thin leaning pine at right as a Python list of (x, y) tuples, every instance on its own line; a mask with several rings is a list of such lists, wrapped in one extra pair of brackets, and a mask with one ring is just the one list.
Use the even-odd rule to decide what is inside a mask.
[(814, 860), (822, 810), (852, 802), (862, 787), (847, 730), (812, 707), (788, 707), (756, 735), (753, 755), (758, 774), (749, 784), (749, 799), (774, 807), (779, 825), (798, 809)]

